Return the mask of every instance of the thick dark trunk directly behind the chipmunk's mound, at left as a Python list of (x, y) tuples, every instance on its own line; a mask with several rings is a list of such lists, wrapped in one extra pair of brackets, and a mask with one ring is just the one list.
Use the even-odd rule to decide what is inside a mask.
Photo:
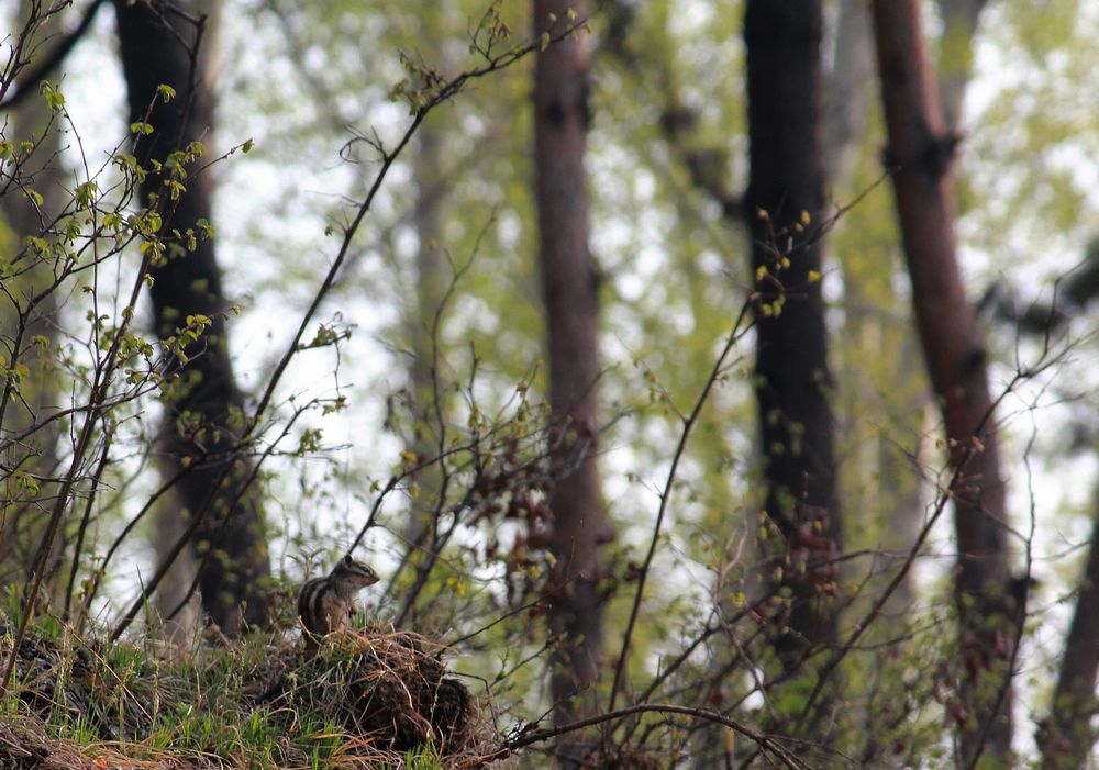
[[(192, 67), (189, 52), (196, 29), (170, 5), (159, 2), (149, 5), (115, 0), (115, 13), (130, 120), (147, 120), (154, 129), (135, 145), (138, 163), (148, 168), (151, 161), (164, 163), (171, 152), (191, 142), (210, 138), (209, 94), (201, 87), (190, 87), (192, 77), (201, 76), (200, 68), (196, 72)], [(167, 103), (157, 96), (162, 83), (176, 91)], [(168, 200), (163, 181), (151, 171), (141, 186), (143, 204), (159, 196), (162, 232), (198, 231), (200, 220), (211, 220), (206, 175), (188, 176), (187, 190), (177, 201)], [(234, 635), (242, 622), (266, 624), (264, 583), (270, 565), (258, 495), (245, 493), (233, 504), (249, 468), (245, 459), (232, 454), (240, 425), (237, 420), (234, 427), (233, 419), (240, 414), (243, 398), (226, 346), (222, 314), (230, 309), (230, 302), (222, 290), (213, 241), (199, 237), (192, 252), (169, 248), (166, 263), (153, 271), (153, 278), (151, 294), (158, 337), (174, 336), (190, 315), (213, 320), (209, 331), (188, 348), (187, 366), (166, 400), (168, 419), (163, 442), (170, 472), (198, 464), (180, 482), (180, 495), (188, 514), (202, 516), (203, 522), (195, 543), (202, 607), (225, 634)]]

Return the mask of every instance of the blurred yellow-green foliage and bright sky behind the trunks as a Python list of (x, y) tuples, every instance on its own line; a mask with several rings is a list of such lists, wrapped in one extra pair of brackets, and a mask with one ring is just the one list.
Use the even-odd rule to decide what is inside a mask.
[[(15, 4), (7, 4), (8, 20)], [(843, 3), (824, 4), (829, 77), (852, 43), (837, 34)], [(956, 126), (957, 233), (970, 297), (986, 300), (981, 317), (998, 393), (1041, 345), (1020, 331), (1019, 313), (1047, 305), (1055, 281), (1086, 269), (1088, 244), (1099, 237), (1099, 113), (1092, 107), (1099, 7), (993, 0), (980, 16), (972, 54), (942, 36), (941, 3), (924, 7), (940, 70), (951, 68), (952, 56), (972, 56)], [(348, 201), (363, 196), (376, 171), (373, 153), (354, 140), (377, 135), (391, 146), (407, 125), (408, 108), (392, 94), (397, 83), (418, 75), (402, 66), (398, 52), (419, 67), (454, 75), (473, 60), (469, 31), (485, 10), (481, 0), (222, 3), (212, 35), (218, 127), (208, 143), (218, 153), (245, 140), (255, 144), (246, 156), (220, 164), (214, 177), (219, 258), (241, 308), (229, 325), (230, 344), (246, 392), (266, 382), (332, 259), (338, 241), (332, 231), (338, 233)], [(110, 9), (104, 11), (60, 80), (82, 132), (63, 135), (63, 167), (76, 163), (78, 140), (86, 156), (97, 158), (125, 133), (116, 44)], [(503, 2), (499, 12), (518, 38), (528, 35), (528, 3)], [(652, 532), (681, 415), (751, 289), (739, 209), (747, 181), (742, 18), (742, 3), (733, 0), (615, 0), (590, 9), (587, 169), (604, 368), (600, 466), (619, 533), (609, 556), (610, 629), (624, 623), (632, 589), (622, 589)], [(322, 305), (320, 320), (351, 330), (349, 338), (301, 354), (279, 392), (282, 414), (308, 398), (346, 399), (335, 414), (303, 417), (293, 428), (299, 449), (265, 465), (271, 553), (288, 584), (354, 539), (380, 487), (407, 465), (401, 453), (412, 447), (419, 455), (415, 447), (437, 439), (437, 417), (454, 426), (455, 436), (478, 414), (514, 419), (517, 440), (539, 431), (545, 366), (532, 67), (530, 59), (473, 82), (429, 116)], [(859, 593), (864, 581), (880, 581), (903, 557), (944, 470), (893, 203), (882, 183), (880, 107), (874, 83), (864, 86), (866, 109), (846, 171), (829, 181), (829, 210), (822, 212), (843, 208), (828, 235), (823, 281), (845, 548), (867, 555), (852, 558), (843, 573), (856, 607), (870, 595)], [(23, 125), (12, 123), (9, 131), (25, 131)], [(10, 245), (18, 236), (8, 216), (2, 236)], [(79, 317), (81, 301), (74, 298), (63, 312)], [(1004, 306), (1019, 312), (1012, 316)], [(1041, 712), (1052, 689), (1095, 505), (1094, 311), (1081, 310), (1066, 328), (1072, 356), (1009, 397), (1000, 413), (1015, 524), (1025, 528), (1029, 517), (1041, 523), (1033, 553), (1040, 585), (1020, 706), (1028, 713)], [(636, 682), (681, 649), (714, 606), (740, 605), (758, 580), (752, 569), (762, 500), (751, 343), (742, 348), (707, 403), (676, 480), (653, 568), (660, 579), (648, 587), (648, 621), (632, 645)], [(439, 364), (439, 412), (415, 373), (417, 361), (431, 356)], [(531, 406), (524, 411), (517, 392), (525, 395), (528, 387)], [(92, 550), (133, 515), (135, 488), (154, 488), (144, 449), (156, 415), (155, 405), (143, 404), (119, 417), (121, 454), (108, 470), (115, 493), (98, 503), (92, 536), (99, 545)], [(384, 574), (401, 562), (409, 522), (446, 494), (437, 484), (422, 479), (420, 492), (404, 487), (381, 506), (380, 526), (365, 549)], [(424, 600), (418, 623), (460, 636), (495, 620), (508, 604), (502, 587), (514, 578), (507, 554), (524, 536), (519, 527), (463, 527), (432, 573), (423, 593), (431, 601)], [(934, 682), (913, 681), (910, 672), (933, 670), (947, 655), (943, 646), (952, 644), (941, 633), (950, 612), (951, 538), (947, 527), (935, 529), (890, 609), (907, 618), (907, 630), (897, 636), (914, 643), (892, 646), (889, 655), (901, 663), (880, 665), (869, 656), (847, 663), (850, 700), (864, 708), (850, 728), (862, 721), (888, 735), (882, 725), (896, 715), (866, 705), (878, 691), (934, 698)], [(491, 543), (498, 544), (495, 555)], [(151, 548), (134, 548), (116, 562), (98, 614), (111, 616), (132, 601), (133, 570), (148, 570), (152, 558)], [(389, 591), (370, 594), (371, 613), (392, 620), (411, 574), (400, 572)], [(545, 672), (520, 663), (543, 636), (523, 618), (480, 636), (475, 644), (486, 655), (465, 656), (459, 667), (488, 681), (499, 674), (497, 699), (537, 712), (542, 695), (534, 684)], [(887, 626), (880, 640), (895, 639), (899, 627)], [(608, 639), (612, 650), (617, 633)], [(691, 661), (706, 671), (711, 659), (699, 652)], [(933, 745), (935, 719), (912, 718), (917, 727), (909, 732), (925, 730), (922, 739)]]

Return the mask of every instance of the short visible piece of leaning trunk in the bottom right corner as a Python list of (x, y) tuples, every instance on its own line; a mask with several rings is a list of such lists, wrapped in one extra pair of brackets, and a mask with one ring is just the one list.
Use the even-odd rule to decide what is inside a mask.
[(1042, 767), (1075, 770), (1086, 766), (1095, 746), (1091, 718), (1099, 712), (1096, 673), (1099, 671), (1099, 489), (1092, 512), (1088, 562), (1076, 598), (1073, 625), (1065, 640), (1057, 689), (1050, 716), (1039, 729)]

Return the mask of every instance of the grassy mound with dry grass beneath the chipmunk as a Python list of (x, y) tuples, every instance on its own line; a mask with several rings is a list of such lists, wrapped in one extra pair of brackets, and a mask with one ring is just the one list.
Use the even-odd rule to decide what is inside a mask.
[(408, 632), (175, 656), (32, 636), (0, 702), (0, 768), (476, 767), (499, 736), (445, 652)]

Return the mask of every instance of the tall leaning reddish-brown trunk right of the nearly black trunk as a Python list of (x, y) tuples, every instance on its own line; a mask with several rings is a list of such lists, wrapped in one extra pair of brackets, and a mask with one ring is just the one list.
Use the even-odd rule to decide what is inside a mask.
[[(1010, 765), (1011, 671), (1015, 622), (1007, 554), (1007, 512), (988, 389), (985, 343), (965, 297), (954, 241), (950, 185), (953, 141), (945, 134), (923, 49), (919, 3), (875, 0), (874, 29), (904, 254), (917, 328), (940, 400), (952, 468), (961, 624), (957, 702), (962, 761), (983, 751)], [(998, 707), (997, 707), (998, 706)]]

